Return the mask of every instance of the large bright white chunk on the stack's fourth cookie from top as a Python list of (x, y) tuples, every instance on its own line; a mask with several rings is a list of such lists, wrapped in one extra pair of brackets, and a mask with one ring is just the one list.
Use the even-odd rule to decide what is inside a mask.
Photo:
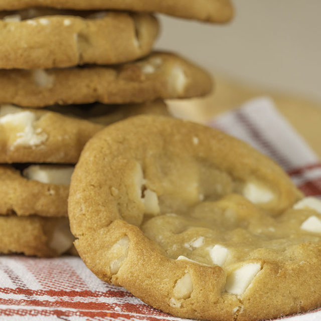
[(0, 125), (8, 126), (10, 132), (16, 132), (12, 146), (37, 146), (47, 139), (47, 134), (41, 129), (35, 129), (36, 115), (31, 111), (7, 114), (0, 118)]

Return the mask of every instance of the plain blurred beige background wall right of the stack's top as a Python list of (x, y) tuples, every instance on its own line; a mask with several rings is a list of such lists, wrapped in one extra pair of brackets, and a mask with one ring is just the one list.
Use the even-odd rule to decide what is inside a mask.
[[(197, 0), (195, 0), (197, 1)], [(224, 26), (162, 16), (158, 48), (213, 74), (321, 102), (321, 0), (234, 0)]]

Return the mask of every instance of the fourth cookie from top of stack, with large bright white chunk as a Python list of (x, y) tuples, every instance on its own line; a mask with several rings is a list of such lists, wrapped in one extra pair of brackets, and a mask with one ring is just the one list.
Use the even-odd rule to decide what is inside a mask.
[[(153, 106), (154, 105), (154, 106)], [(11, 105), (0, 106), (0, 164), (7, 163), (64, 163), (76, 164), (80, 152), (87, 142), (104, 125), (130, 116), (136, 112), (166, 113), (163, 102), (144, 106), (119, 106), (119, 111), (108, 114), (103, 106), (83, 107), (86, 119), (62, 115), (51, 110), (23, 109)], [(70, 113), (77, 109), (70, 108)], [(110, 107), (109, 107), (110, 108)], [(129, 111), (130, 109), (130, 111)], [(128, 110), (128, 111), (126, 111)], [(97, 114), (98, 113), (98, 114)], [(92, 117), (92, 118), (91, 118)]]

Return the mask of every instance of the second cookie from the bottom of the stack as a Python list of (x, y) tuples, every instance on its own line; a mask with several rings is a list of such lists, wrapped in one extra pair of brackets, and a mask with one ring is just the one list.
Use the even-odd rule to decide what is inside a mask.
[(0, 166), (0, 215), (67, 216), (73, 166)]

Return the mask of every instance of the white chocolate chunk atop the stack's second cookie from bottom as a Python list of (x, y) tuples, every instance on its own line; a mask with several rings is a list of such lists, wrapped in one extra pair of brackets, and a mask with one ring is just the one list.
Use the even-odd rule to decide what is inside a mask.
[(32, 165), (23, 171), (23, 176), (44, 184), (69, 185), (73, 172), (73, 166)]

